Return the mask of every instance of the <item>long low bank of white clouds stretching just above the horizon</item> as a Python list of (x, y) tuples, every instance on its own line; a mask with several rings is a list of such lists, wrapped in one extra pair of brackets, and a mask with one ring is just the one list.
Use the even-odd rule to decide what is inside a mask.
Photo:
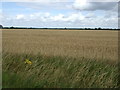
[[(105, 13), (107, 15), (108, 13)], [(57, 14), (52, 15), (46, 13), (33, 13), (30, 15), (20, 14), (12, 17), (4, 18), (3, 25), (6, 26), (29, 26), (29, 27), (116, 27), (117, 16), (115, 14), (110, 17), (96, 16), (94, 13), (83, 15), (80, 12), (68, 15)]]

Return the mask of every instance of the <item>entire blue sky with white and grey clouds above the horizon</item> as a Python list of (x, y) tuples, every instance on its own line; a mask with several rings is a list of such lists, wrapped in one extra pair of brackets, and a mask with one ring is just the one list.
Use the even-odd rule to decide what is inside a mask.
[(118, 28), (118, 3), (108, 1), (3, 0), (0, 20), (3, 26)]

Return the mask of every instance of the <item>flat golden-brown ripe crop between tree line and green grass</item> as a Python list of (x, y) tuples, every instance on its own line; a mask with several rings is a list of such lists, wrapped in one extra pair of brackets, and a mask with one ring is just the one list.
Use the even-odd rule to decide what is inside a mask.
[(3, 30), (4, 52), (118, 59), (118, 31)]

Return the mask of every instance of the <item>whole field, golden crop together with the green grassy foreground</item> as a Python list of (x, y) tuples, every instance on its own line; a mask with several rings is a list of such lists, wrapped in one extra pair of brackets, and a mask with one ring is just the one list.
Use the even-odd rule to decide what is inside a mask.
[(118, 31), (3, 29), (2, 52), (4, 88), (119, 86)]

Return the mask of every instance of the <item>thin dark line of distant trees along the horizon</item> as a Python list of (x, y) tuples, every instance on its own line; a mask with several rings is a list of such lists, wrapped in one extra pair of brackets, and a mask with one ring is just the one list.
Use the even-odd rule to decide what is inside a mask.
[(0, 25), (0, 28), (2, 29), (58, 29), (58, 30), (119, 30), (119, 29), (113, 29), (113, 28), (33, 28), (33, 27), (3, 27)]

